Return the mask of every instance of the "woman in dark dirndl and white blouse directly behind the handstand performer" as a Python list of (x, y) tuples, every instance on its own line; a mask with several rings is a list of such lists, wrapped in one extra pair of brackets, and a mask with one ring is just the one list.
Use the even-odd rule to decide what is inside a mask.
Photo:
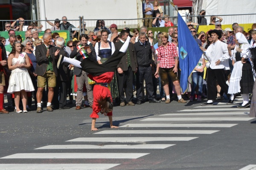
[[(108, 58), (115, 52), (116, 48), (113, 42), (108, 41), (108, 30), (103, 29), (101, 31), (102, 41), (95, 44), (95, 52), (97, 56), (97, 62), (103, 64)], [(119, 97), (118, 83), (116, 77), (116, 71), (114, 77), (109, 83), (111, 88), (111, 96), (113, 99)]]

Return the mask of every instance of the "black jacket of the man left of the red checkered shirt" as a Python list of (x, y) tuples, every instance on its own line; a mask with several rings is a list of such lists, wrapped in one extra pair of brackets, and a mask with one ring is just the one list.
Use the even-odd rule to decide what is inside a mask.
[(136, 52), (138, 66), (149, 67), (154, 63), (152, 58), (151, 45), (148, 41), (145, 41), (145, 46), (143, 46), (140, 41), (136, 42), (134, 44), (134, 49)]

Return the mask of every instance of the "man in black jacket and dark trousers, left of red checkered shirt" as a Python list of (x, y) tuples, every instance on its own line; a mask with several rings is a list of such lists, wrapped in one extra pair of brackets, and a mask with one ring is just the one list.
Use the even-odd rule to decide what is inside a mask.
[(136, 52), (138, 71), (136, 72), (136, 98), (137, 105), (142, 104), (142, 91), (143, 79), (146, 82), (146, 88), (148, 91), (148, 99), (150, 103), (160, 103), (154, 98), (154, 88), (153, 88), (153, 79), (152, 79), (152, 50), (151, 45), (146, 41), (146, 33), (140, 32), (139, 41), (135, 42), (134, 49)]

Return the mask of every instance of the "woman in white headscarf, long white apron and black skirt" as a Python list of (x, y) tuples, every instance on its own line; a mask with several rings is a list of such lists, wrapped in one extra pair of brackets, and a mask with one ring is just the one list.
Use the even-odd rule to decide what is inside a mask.
[(234, 65), (232, 74), (230, 76), (230, 85), (228, 88), (228, 94), (231, 94), (229, 102), (233, 103), (234, 94), (240, 93), (243, 98), (243, 103), (238, 105), (238, 108), (247, 108), (250, 106), (249, 94), (253, 92), (253, 71), (249, 60), (247, 49), (250, 47), (244, 34), (238, 32), (235, 36), (236, 45), (234, 50), (231, 51), (230, 45), (228, 50), (230, 56), (232, 56), (232, 63)]

